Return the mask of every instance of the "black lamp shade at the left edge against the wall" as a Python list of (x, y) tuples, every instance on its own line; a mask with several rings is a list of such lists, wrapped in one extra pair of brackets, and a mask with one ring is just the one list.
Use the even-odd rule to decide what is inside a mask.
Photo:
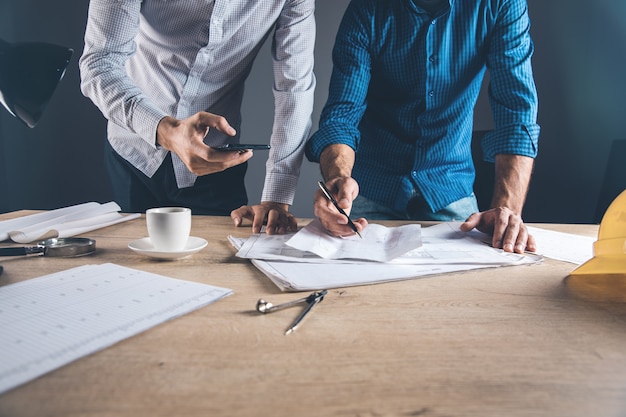
[(8, 43), (0, 39), (0, 101), (28, 127), (35, 127), (73, 50), (45, 42)]

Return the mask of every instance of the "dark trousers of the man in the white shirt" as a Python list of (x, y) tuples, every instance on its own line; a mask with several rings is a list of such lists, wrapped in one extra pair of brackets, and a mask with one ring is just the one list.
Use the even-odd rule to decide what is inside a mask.
[(152, 207), (180, 206), (189, 207), (193, 214), (229, 216), (232, 210), (248, 203), (244, 183), (247, 163), (198, 177), (192, 187), (179, 189), (170, 154), (148, 178), (122, 158), (108, 140), (105, 142), (105, 165), (113, 197), (123, 212), (143, 213)]

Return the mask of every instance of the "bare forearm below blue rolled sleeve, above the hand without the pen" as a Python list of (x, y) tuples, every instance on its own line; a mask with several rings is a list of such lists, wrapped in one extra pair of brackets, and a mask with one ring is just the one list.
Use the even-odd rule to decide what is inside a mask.
[(496, 155), (496, 175), (491, 207), (507, 207), (521, 215), (534, 159), (521, 155)]

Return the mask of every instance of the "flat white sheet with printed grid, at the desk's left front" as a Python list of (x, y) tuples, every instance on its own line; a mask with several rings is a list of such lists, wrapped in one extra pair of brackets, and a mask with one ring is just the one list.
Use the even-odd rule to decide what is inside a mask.
[(232, 290), (115, 264), (0, 288), (0, 394)]

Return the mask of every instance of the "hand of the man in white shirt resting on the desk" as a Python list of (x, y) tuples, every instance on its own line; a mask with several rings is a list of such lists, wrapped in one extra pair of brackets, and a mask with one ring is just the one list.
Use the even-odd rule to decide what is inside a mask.
[(263, 224), (268, 235), (298, 231), (298, 221), (289, 213), (287, 204), (263, 201), (255, 206), (241, 206), (231, 211), (230, 217), (236, 227), (241, 225), (243, 219), (252, 220), (252, 233), (260, 233)]

